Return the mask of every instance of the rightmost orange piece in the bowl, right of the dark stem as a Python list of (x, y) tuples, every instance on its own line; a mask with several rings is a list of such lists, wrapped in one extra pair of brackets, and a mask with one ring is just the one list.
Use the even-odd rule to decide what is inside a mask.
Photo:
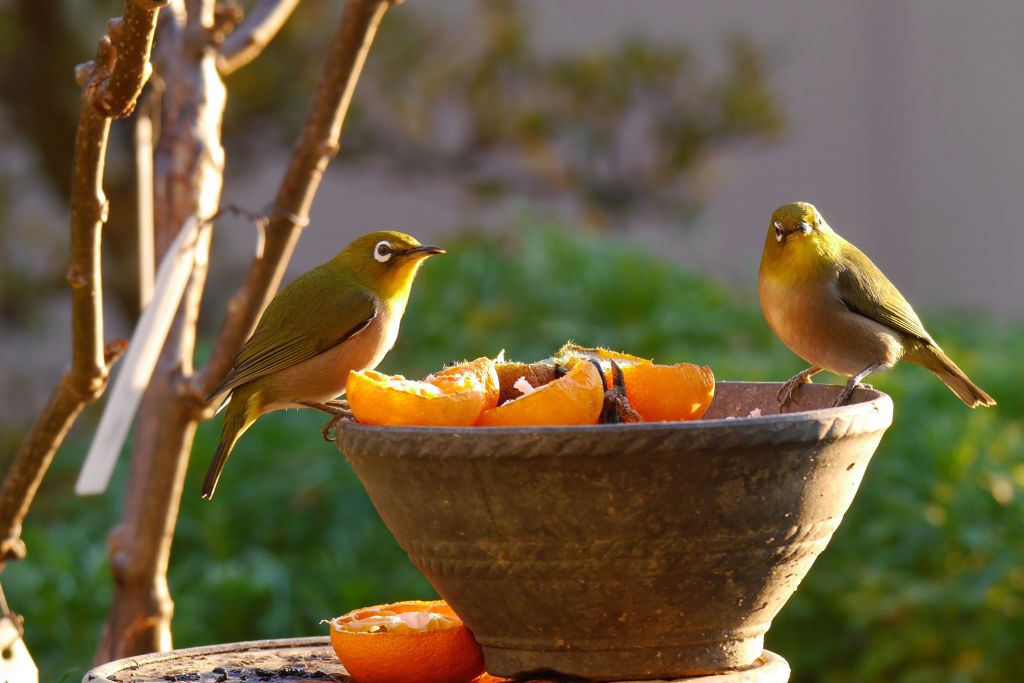
[(626, 397), (645, 422), (697, 420), (715, 397), (715, 375), (705, 366), (626, 366), (623, 376)]

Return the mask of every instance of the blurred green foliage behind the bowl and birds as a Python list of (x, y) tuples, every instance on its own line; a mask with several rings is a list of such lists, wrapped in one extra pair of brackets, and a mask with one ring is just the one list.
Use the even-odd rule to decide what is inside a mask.
[[(445, 241), (424, 267), (383, 370), (546, 356), (563, 341), (780, 380), (801, 362), (756, 302), (610, 239), (551, 227)], [(1024, 327), (926, 315), (999, 400), (969, 411), (908, 366), (873, 379), (895, 422), (862, 488), (767, 645), (800, 682), (1016, 680), (1024, 644)], [(199, 499), (219, 421), (204, 424), (170, 567), (177, 646), (322, 632), (319, 618), (432, 595), (311, 412), (275, 413), (241, 441), (213, 503)], [(84, 443), (65, 449), (3, 575), (43, 680), (87, 668), (111, 599), (102, 539), (119, 501), (71, 496)], [(124, 465), (112, 486), (124, 485)]]

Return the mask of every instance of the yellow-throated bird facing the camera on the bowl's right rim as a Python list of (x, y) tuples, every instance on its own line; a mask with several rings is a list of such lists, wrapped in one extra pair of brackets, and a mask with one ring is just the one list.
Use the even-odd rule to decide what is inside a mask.
[(867, 375), (899, 360), (931, 371), (971, 408), (995, 404), (935, 343), (878, 266), (811, 204), (783, 204), (772, 213), (758, 293), (768, 326), (811, 364), (782, 386), (783, 405), (822, 370), (850, 378), (835, 402), (842, 405)]

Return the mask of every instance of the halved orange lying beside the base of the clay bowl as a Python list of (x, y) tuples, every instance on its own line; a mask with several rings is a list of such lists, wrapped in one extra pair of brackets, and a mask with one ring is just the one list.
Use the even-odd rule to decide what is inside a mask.
[(483, 673), (479, 644), (443, 600), (365, 607), (328, 624), (356, 683), (468, 683)]

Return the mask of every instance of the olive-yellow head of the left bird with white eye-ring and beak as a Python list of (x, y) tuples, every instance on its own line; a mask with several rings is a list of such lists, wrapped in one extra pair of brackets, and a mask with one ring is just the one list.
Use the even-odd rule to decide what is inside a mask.
[(357, 238), (335, 260), (364, 285), (385, 298), (408, 289), (428, 257), (444, 250), (422, 245), (411, 234), (378, 230)]

